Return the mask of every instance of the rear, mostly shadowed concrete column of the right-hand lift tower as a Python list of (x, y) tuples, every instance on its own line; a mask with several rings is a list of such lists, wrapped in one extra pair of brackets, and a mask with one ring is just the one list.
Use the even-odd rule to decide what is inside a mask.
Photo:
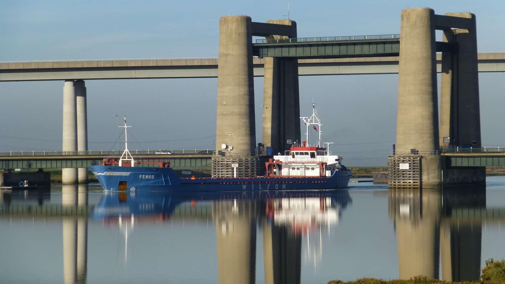
[[(471, 29), (445, 28), (443, 41), (456, 48), (442, 54), (440, 145), (481, 147), (477, 32), (472, 13), (446, 13), (470, 19)], [(444, 143), (443, 137), (450, 137)]]

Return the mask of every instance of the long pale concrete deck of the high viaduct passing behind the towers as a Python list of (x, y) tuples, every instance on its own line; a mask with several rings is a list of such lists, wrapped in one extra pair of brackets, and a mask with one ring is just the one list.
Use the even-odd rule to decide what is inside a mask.
[[(299, 59), (298, 74), (397, 74), (398, 56)], [(505, 53), (479, 53), (479, 72), (505, 72)], [(264, 75), (264, 59), (254, 58), (254, 76)], [(218, 58), (144, 58), (0, 62), (0, 81), (217, 78)], [(441, 72), (441, 54), (437, 54)]]

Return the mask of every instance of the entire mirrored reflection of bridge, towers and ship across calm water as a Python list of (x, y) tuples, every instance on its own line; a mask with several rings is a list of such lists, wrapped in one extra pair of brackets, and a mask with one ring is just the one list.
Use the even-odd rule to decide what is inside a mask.
[[(397, 236), (400, 278), (479, 278), (482, 225), (505, 220), (502, 208), (486, 208), (484, 189), (443, 194), (390, 190), (387, 194), (389, 218)], [(95, 221), (118, 227), (118, 237), (124, 238), (124, 252), (120, 254), (124, 254), (125, 267), (129, 239), (135, 235), (134, 227), (142, 228), (137, 229), (141, 223), (160, 227), (184, 222), (212, 227), (214, 223), (217, 256), (207, 261), (217, 259), (220, 284), (256, 282), (257, 235), (262, 233), (265, 283), (300, 283), (302, 257), (313, 257), (317, 266), (324, 252), (321, 234), (329, 234), (352, 202), (348, 191), (188, 195), (106, 192), (95, 193), (100, 200), (89, 205), (87, 186), (71, 185), (62, 187), (61, 205), (51, 201), (49, 193), (0, 195), (0, 217), (40, 218), (44, 224), (48, 218), (61, 220), (65, 283), (85, 283), (88, 278), (88, 222)], [(307, 245), (302, 240), (307, 240)], [(303, 261), (307, 262), (305, 258)], [(338, 278), (338, 269), (335, 271), (334, 278)]]

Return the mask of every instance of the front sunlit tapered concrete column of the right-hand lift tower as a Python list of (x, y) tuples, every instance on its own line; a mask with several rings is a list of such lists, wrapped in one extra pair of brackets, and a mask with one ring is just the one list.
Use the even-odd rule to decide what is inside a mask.
[[(403, 9), (400, 34), (396, 151), (423, 155), (439, 149), (434, 11)], [(441, 185), (442, 167), (440, 156), (423, 155), (422, 186)]]

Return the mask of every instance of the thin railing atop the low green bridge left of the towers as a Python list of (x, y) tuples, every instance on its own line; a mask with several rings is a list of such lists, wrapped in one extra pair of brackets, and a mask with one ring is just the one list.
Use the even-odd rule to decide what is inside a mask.
[[(132, 155), (194, 155), (194, 154), (214, 154), (214, 149), (180, 149), (180, 150), (130, 150)], [(21, 151), (21, 152), (0, 152), (0, 157), (9, 156), (121, 156), (123, 150), (121, 151), (107, 151), (107, 150), (88, 150), (88, 151)]]

